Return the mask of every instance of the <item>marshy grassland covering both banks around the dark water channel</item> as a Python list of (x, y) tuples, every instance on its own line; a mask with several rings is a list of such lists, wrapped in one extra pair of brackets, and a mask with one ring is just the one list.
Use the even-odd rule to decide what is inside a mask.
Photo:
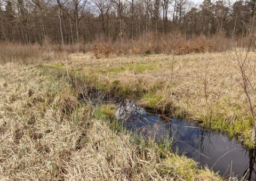
[[(232, 57), (227, 52), (174, 59), (171, 55), (96, 59), (90, 53), (52, 53), (28, 58), (26, 64), (15, 59), (0, 64), (1, 178), (221, 179), (207, 168), (199, 169), (192, 159), (113, 126), (111, 110), (94, 109), (78, 97), (83, 86), (90, 85), (145, 108), (226, 131), (251, 146), (253, 122)], [(78, 84), (81, 80), (83, 85)]]

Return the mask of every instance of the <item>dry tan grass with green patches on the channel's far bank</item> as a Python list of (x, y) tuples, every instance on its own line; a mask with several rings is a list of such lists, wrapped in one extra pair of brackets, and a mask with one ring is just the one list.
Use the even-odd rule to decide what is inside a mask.
[[(250, 53), (255, 59), (254, 53)], [(96, 59), (71, 54), (62, 68), (87, 76), (99, 89), (129, 96), (151, 109), (169, 112), (236, 136), (246, 146), (252, 118), (231, 61), (234, 52), (175, 55), (119, 56)], [(56, 64), (56, 62), (55, 62)]]

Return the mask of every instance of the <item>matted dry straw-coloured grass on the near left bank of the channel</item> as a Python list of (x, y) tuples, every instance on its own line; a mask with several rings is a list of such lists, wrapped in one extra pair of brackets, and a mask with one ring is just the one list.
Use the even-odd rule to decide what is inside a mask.
[[(131, 135), (113, 131), (77, 101), (63, 77), (14, 63), (0, 64), (0, 72), (1, 180), (219, 179), (187, 158), (172, 160), (179, 157), (153, 143), (141, 149)], [(176, 170), (184, 162), (193, 162), (188, 173)]]

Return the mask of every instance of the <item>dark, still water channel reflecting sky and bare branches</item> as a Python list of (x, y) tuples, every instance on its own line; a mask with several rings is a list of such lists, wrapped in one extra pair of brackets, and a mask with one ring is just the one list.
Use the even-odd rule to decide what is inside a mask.
[(130, 130), (137, 130), (156, 141), (173, 139), (173, 150), (185, 154), (229, 178), (256, 180), (255, 150), (246, 150), (235, 139), (204, 130), (196, 124), (177, 118), (163, 118), (146, 112), (130, 102), (119, 104), (116, 116)]

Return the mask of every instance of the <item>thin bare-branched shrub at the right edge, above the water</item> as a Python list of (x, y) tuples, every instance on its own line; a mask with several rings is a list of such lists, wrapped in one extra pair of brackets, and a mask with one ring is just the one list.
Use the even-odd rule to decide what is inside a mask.
[(255, 131), (256, 131), (256, 60), (249, 56), (251, 50), (255, 48), (255, 32), (256, 32), (256, 20), (255, 17), (251, 20), (250, 24), (244, 23), (247, 30), (247, 38), (249, 42), (244, 47), (235, 47), (235, 55), (228, 58), (229, 62), (233, 65), (238, 75), (237, 81), (239, 82), (243, 93), (247, 108), (250, 110), (251, 116), (253, 117), (253, 130), (252, 130), (252, 142), (254, 146)]

